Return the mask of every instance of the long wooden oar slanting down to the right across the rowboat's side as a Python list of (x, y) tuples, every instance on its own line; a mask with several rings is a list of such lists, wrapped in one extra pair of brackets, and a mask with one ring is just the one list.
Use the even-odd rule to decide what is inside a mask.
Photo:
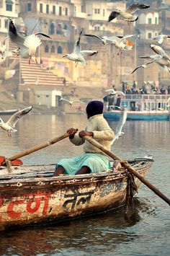
[(136, 172), (135, 169), (133, 167), (131, 167), (130, 164), (128, 164), (128, 162), (125, 162), (124, 160), (120, 159), (120, 157), (116, 156), (111, 151), (107, 150), (104, 146), (99, 144), (99, 142), (95, 141), (94, 138), (91, 138), (89, 136), (84, 136), (84, 138), (86, 139), (86, 141), (89, 141), (89, 143), (93, 144), (98, 149), (102, 150), (105, 154), (112, 157), (112, 159), (119, 160), (123, 167), (128, 169), (129, 172), (133, 173), (133, 175), (135, 175), (135, 177), (138, 177), (138, 179), (141, 182), (143, 182), (147, 187), (149, 187), (154, 193), (156, 193), (156, 195), (158, 195), (160, 198), (162, 198), (170, 206), (170, 199), (167, 198), (166, 195), (161, 193), (161, 191), (159, 191), (156, 187), (154, 187), (150, 182), (148, 182), (148, 180), (146, 180), (146, 178), (144, 178), (138, 172)]

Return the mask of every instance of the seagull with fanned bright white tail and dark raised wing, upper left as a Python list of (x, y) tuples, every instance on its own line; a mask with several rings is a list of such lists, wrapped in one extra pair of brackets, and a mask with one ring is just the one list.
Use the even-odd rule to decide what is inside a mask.
[(28, 35), (27, 37), (19, 35), (17, 33), (16, 27), (14, 26), (14, 23), (12, 22), (11, 19), (9, 19), (9, 38), (18, 47), (16, 50), (14, 50), (14, 53), (17, 56), (20, 55), (22, 58), (29, 58), (29, 64), (32, 56), (34, 55), (35, 55), (35, 62), (37, 63), (36, 50), (37, 50), (37, 47), (39, 47), (40, 44), (42, 43), (40, 38), (37, 37), (37, 35), (42, 35), (44, 37), (48, 37), (51, 39), (49, 35), (45, 35), (42, 32), (37, 32), (35, 34)]

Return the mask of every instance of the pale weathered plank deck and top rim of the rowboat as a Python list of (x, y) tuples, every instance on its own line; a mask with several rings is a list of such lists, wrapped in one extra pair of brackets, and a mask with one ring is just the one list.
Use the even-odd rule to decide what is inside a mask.
[[(144, 156), (143, 158), (127, 160), (128, 163), (135, 168), (136, 171), (148, 169), (151, 167), (153, 162), (152, 156)], [(101, 172), (97, 174), (88, 175), (60, 175), (58, 177), (53, 177), (55, 170), (55, 164), (44, 164), (44, 165), (21, 165), (12, 166), (10, 169), (6, 166), (0, 166), (0, 183), (2, 182), (22, 182), (24, 180), (45, 180), (47, 178), (55, 180), (69, 180), (84, 177), (105, 177), (108, 175), (125, 175), (125, 169), (123, 167), (117, 168), (117, 161), (110, 159), (112, 170), (107, 172)]]

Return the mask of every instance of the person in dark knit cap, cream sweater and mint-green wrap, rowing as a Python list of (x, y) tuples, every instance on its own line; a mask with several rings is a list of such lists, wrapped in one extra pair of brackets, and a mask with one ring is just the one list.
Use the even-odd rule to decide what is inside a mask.
[(107, 120), (103, 117), (103, 102), (94, 100), (86, 106), (88, 123), (86, 129), (76, 134), (78, 129), (70, 128), (67, 133), (72, 144), (80, 146), (84, 144), (84, 154), (71, 159), (62, 159), (55, 167), (53, 176), (61, 174), (82, 175), (86, 173), (105, 172), (111, 169), (108, 157), (97, 147), (86, 141), (84, 136), (91, 136), (99, 141), (108, 150), (115, 133), (109, 127)]

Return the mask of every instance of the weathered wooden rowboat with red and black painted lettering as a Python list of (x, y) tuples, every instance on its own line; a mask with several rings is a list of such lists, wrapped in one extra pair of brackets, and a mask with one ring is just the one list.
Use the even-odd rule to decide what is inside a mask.
[[(141, 176), (151, 159), (128, 161)], [(114, 163), (114, 162), (112, 162)], [(125, 204), (125, 169), (90, 175), (53, 177), (55, 165), (0, 167), (0, 229), (88, 216)], [(140, 180), (135, 184), (140, 186)]]

